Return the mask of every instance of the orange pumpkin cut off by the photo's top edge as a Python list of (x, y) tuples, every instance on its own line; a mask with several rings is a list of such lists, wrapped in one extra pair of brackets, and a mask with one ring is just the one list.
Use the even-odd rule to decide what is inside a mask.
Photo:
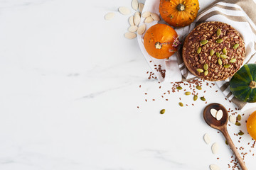
[(199, 10), (198, 0), (160, 0), (161, 17), (171, 26), (183, 27), (191, 24)]

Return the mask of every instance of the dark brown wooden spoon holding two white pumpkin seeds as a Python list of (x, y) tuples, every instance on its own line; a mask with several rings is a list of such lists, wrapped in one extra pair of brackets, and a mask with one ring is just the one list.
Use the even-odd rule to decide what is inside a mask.
[[(213, 117), (213, 115), (210, 114), (210, 109), (214, 108), (215, 110), (222, 110), (223, 111), (223, 117), (220, 120), (217, 120)], [(222, 106), (219, 103), (211, 103), (203, 111), (203, 118), (206, 120), (206, 123), (211, 127), (215, 128), (217, 130), (220, 130), (220, 132), (223, 133), (225, 139), (228, 142), (228, 145), (232, 149), (232, 151), (235, 154), (235, 157), (238, 159), (238, 162), (242, 168), (242, 170), (247, 170), (247, 167), (245, 166), (245, 162), (242, 161), (242, 157), (238, 153), (238, 150), (235, 148), (235, 145), (233, 141), (230, 138), (230, 135), (228, 135), (227, 130), (227, 124), (228, 124), (228, 111), (225, 109), (224, 106)]]

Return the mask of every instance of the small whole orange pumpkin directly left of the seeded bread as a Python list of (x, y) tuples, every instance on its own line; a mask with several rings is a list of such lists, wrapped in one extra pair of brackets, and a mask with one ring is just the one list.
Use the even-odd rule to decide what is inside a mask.
[(154, 58), (164, 59), (178, 50), (178, 35), (174, 28), (158, 23), (146, 30), (144, 47), (146, 52)]

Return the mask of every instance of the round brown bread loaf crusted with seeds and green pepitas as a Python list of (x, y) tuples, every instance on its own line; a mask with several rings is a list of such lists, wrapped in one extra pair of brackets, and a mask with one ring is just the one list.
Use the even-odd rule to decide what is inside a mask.
[[(217, 36), (218, 29), (220, 29), (219, 36)], [(202, 40), (208, 42), (203, 45)], [(234, 45), (238, 47), (235, 48)], [(198, 50), (199, 47), (201, 52)], [(223, 53), (224, 48), (227, 50), (226, 55)], [(214, 51), (213, 55), (210, 55), (210, 50)], [(216, 52), (219, 52), (221, 57), (218, 57)], [(209, 81), (225, 80), (232, 77), (242, 66), (245, 60), (245, 42), (238, 31), (227, 23), (216, 21), (201, 23), (186, 37), (182, 58), (188, 70), (197, 77)], [(208, 72), (204, 69), (206, 64)]]

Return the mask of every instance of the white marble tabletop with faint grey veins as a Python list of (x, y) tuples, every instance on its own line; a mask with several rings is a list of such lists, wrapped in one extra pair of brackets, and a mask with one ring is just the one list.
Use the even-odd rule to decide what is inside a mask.
[[(210, 2), (201, 0), (201, 8)], [(182, 93), (161, 99), (171, 84), (147, 79), (137, 40), (123, 36), (128, 17), (104, 20), (119, 6), (130, 0), (0, 0), (1, 170), (228, 169), (232, 152), (204, 123), (206, 104), (181, 108), (180, 96), (192, 103)], [(203, 89), (208, 103), (235, 108), (216, 86)], [(245, 118), (230, 134), (245, 132)], [(203, 141), (206, 132), (219, 154)], [(231, 137), (248, 152), (247, 134), (240, 143)]]

